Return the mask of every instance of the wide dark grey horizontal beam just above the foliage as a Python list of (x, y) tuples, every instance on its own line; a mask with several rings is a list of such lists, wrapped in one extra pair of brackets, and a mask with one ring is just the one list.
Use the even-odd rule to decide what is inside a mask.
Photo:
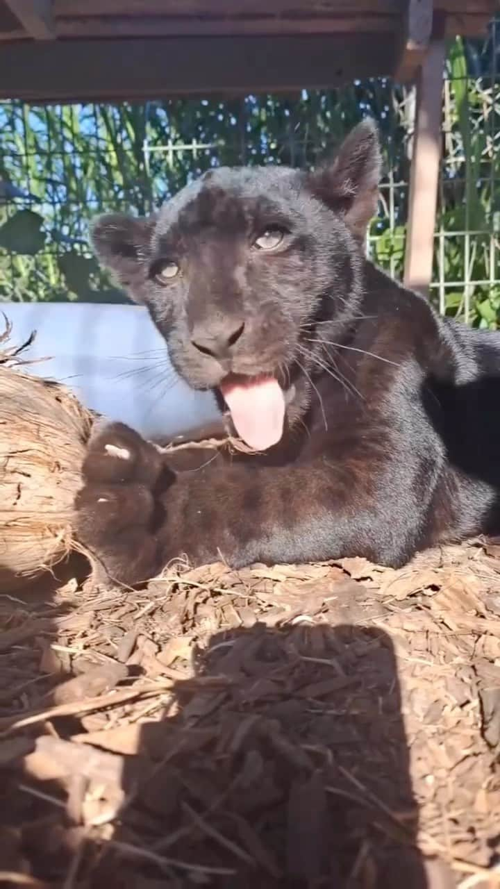
[(0, 45), (0, 99), (300, 92), (390, 75), (394, 60), (390, 34), (21, 41)]

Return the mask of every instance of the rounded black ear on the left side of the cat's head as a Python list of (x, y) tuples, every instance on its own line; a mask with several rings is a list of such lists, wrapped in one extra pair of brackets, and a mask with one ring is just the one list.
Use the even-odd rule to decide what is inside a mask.
[(105, 213), (93, 222), (93, 251), (126, 288), (146, 267), (155, 221), (154, 215), (138, 219), (126, 213)]

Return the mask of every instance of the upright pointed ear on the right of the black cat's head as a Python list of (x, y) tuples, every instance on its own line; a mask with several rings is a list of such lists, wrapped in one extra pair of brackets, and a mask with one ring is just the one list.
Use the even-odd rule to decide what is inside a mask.
[(308, 175), (310, 191), (343, 215), (352, 235), (362, 241), (375, 216), (382, 156), (376, 125), (363, 121), (343, 140), (335, 157)]

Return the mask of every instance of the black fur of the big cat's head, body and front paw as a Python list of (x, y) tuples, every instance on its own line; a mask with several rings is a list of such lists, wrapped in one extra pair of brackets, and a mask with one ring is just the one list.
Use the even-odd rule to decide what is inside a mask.
[[(500, 531), (500, 337), (443, 320), (366, 260), (379, 176), (375, 127), (361, 124), (316, 172), (218, 169), (148, 220), (96, 221), (98, 256), (191, 386), (265, 372), (295, 393), (279, 445), (198, 471), (125, 427), (97, 432), (77, 529), (113, 578), (145, 580), (183, 554), (403, 565)], [(272, 228), (282, 244), (257, 250)]]

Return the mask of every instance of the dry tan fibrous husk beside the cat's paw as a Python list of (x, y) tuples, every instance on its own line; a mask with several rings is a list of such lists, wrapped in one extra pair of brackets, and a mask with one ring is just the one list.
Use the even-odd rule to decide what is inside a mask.
[(71, 515), (93, 416), (69, 389), (21, 372), (0, 342), (0, 589), (46, 572), (72, 548)]

